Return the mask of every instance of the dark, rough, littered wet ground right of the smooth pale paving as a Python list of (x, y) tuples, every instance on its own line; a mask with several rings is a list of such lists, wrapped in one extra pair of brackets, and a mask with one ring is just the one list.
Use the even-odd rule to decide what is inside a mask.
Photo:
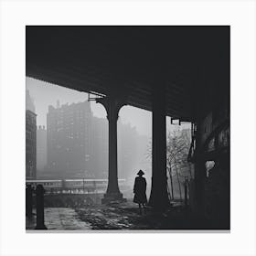
[[(183, 229), (184, 210), (174, 206), (163, 212), (146, 208), (142, 214), (133, 202), (76, 208), (81, 220), (91, 224), (91, 229)], [(177, 219), (177, 217), (180, 219)], [(177, 228), (178, 227), (178, 228)]]

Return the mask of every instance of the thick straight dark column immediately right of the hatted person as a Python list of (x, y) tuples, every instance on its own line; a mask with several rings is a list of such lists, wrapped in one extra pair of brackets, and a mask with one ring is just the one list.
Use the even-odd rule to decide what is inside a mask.
[(152, 187), (149, 205), (156, 210), (169, 206), (166, 176), (165, 86), (153, 91)]

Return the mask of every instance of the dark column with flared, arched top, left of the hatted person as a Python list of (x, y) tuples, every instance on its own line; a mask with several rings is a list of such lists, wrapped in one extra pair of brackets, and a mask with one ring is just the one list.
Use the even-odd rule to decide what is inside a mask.
[(102, 203), (111, 201), (123, 201), (123, 194), (118, 187), (117, 176), (117, 119), (118, 112), (123, 107), (124, 102), (118, 97), (107, 96), (98, 99), (96, 102), (101, 103), (106, 112), (109, 121), (109, 177), (107, 192), (102, 198)]

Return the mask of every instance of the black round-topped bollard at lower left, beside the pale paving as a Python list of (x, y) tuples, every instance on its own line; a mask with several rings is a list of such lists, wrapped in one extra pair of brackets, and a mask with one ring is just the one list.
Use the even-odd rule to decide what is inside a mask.
[(44, 187), (39, 184), (36, 189), (37, 194), (37, 227), (36, 229), (47, 229), (45, 226), (45, 212), (44, 212)]

